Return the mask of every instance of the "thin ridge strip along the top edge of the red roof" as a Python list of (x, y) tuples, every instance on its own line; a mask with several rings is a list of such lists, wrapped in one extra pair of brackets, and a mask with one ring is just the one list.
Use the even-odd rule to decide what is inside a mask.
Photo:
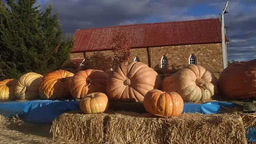
[(198, 20), (183, 20), (183, 21), (170, 21), (170, 22), (151, 22), (151, 23), (141, 23), (141, 24), (127, 24), (127, 25), (118, 25), (118, 26), (105, 26), (105, 27), (95, 27), (95, 28), (84, 28), (84, 29), (77, 29), (76, 31), (82, 30), (95, 30), (95, 29), (104, 29), (104, 28), (115, 28), (115, 27), (124, 27), (124, 26), (138, 26), (138, 25), (147, 25), (147, 24), (164, 24), (164, 23), (178, 23), (178, 22), (195, 22), (195, 21), (202, 21), (202, 20), (215, 20), (219, 18), (206, 18), (206, 19), (198, 19)]

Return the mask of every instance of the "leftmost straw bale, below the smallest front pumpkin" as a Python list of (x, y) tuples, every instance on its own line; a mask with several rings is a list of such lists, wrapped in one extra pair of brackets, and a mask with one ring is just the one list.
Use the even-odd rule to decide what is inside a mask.
[(53, 121), (53, 138), (64, 138), (87, 144), (104, 142), (104, 117), (106, 114), (64, 113)]

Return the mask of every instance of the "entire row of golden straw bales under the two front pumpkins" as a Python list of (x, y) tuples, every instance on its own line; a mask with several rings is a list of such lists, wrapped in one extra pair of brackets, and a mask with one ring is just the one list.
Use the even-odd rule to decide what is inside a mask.
[(55, 138), (105, 144), (246, 144), (234, 114), (182, 114), (157, 118), (135, 112), (65, 113), (54, 121)]

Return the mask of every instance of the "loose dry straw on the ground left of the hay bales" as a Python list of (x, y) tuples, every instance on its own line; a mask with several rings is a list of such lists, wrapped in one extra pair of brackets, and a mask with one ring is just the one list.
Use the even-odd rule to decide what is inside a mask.
[(0, 144), (80, 144), (63, 138), (52, 139), (50, 124), (28, 124), (19, 118), (0, 115)]

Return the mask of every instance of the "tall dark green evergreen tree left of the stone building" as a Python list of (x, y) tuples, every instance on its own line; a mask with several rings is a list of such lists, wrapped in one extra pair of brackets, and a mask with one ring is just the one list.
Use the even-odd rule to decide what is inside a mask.
[(52, 5), (42, 11), (35, 3), (0, 3), (0, 78), (30, 71), (46, 74), (69, 60), (73, 41), (62, 40), (58, 14), (52, 14)]

